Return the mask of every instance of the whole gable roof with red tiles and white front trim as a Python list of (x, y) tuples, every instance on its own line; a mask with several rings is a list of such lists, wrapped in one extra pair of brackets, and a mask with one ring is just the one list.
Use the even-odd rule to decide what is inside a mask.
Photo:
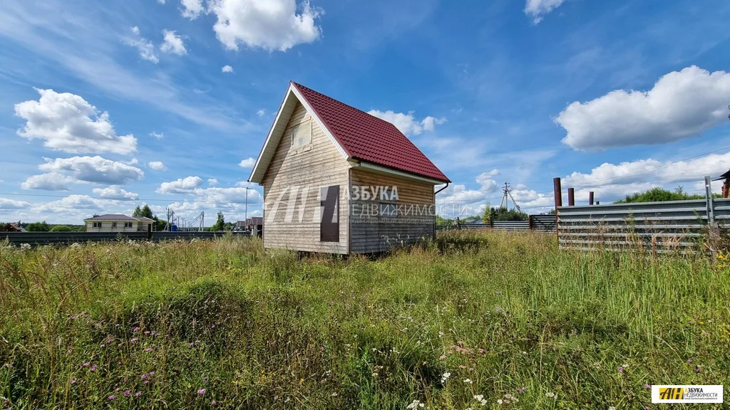
[[(294, 96), (295, 98), (291, 98)], [(361, 160), (442, 183), (450, 180), (395, 125), (291, 82), (249, 180), (261, 182), (296, 101), (301, 102), (347, 160)]]

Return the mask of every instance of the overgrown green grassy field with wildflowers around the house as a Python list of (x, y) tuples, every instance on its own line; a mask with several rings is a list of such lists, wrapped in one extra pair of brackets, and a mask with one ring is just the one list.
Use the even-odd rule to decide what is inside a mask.
[(658, 409), (730, 385), (729, 272), (539, 233), (2, 247), (0, 409)]

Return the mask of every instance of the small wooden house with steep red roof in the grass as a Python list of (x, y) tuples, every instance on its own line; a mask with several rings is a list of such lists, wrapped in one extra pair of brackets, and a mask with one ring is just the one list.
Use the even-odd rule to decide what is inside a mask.
[(264, 189), (264, 247), (335, 254), (431, 238), (434, 187), (450, 182), (393, 124), (295, 82), (249, 181)]

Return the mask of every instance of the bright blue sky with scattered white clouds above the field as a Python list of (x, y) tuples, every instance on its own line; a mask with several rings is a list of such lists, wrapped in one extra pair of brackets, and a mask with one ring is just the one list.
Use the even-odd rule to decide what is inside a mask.
[(504, 182), (545, 212), (553, 177), (579, 204), (699, 192), (730, 168), (727, 21), (723, 0), (9, 0), (0, 220), (242, 219), (290, 80), (395, 123), (467, 214)]

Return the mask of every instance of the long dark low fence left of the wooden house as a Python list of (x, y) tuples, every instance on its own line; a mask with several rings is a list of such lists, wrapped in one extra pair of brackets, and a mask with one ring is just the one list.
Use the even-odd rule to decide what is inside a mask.
[[(171, 239), (212, 239), (226, 235), (228, 232), (153, 232), (147, 237), (147, 232), (0, 232), (0, 241), (7, 240), (10, 244), (31, 246), (73, 244), (84, 242), (104, 241), (167, 241)], [(236, 236), (248, 236), (248, 232), (231, 232)]]

